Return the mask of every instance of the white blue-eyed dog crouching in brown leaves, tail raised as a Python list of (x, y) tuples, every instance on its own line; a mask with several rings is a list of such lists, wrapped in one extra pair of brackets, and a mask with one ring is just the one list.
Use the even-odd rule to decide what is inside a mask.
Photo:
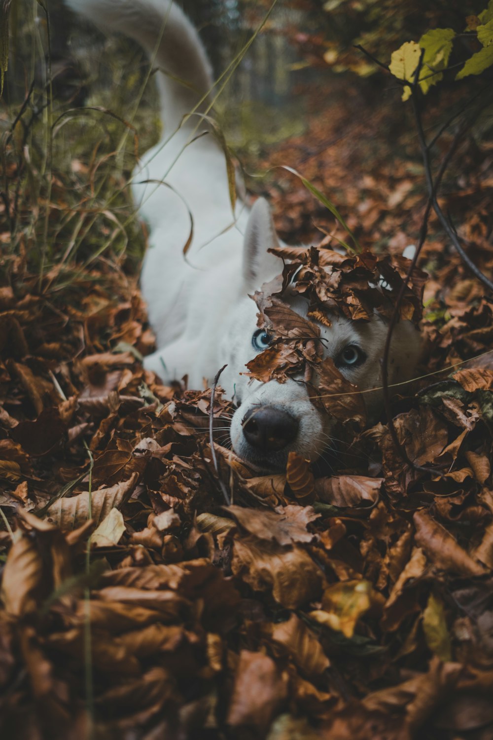
[[(197, 31), (170, 0), (67, 2), (98, 26), (135, 38), (159, 70), (163, 136), (146, 152), (132, 184), (151, 232), (141, 281), (159, 349), (146, 357), (146, 368), (166, 381), (188, 374), (189, 386), (200, 388), (204, 378), (210, 385), (227, 365), (220, 383), (238, 406), (231, 425), (237, 454), (267, 469), (282, 468), (289, 451), (315, 460), (333, 420), (310, 403), (305, 385), (295, 380), (259, 383), (245, 374), (245, 364), (268, 341), (257, 329), (257, 308), (248, 296), (282, 272), (283, 265), (268, 252), (279, 245), (268, 203), (259, 199), (248, 210), (240, 202), (232, 213), (225, 155), (200, 115), (213, 78)], [(189, 112), (193, 115), (184, 118)], [(184, 258), (191, 219), (193, 235)], [(307, 310), (299, 298), (293, 305), (299, 313)], [(330, 320), (330, 328), (320, 326), (321, 334), (341, 374), (361, 389), (381, 386), (387, 333), (381, 317), (358, 323), (337, 316)], [(399, 323), (390, 383), (412, 373), (419, 344), (415, 327)], [(379, 394), (370, 397), (370, 406), (378, 406)]]

